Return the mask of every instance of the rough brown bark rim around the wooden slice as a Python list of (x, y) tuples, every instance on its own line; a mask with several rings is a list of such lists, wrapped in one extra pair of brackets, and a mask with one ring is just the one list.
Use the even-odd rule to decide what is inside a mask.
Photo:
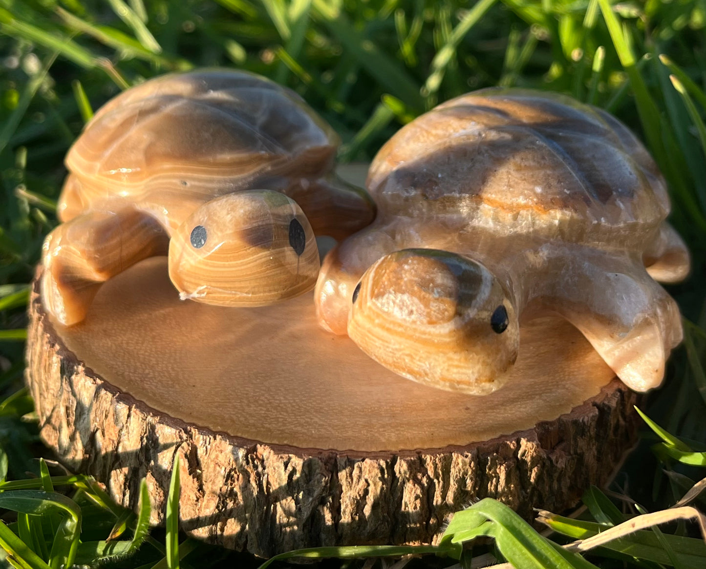
[(181, 457), (181, 527), (258, 556), (304, 546), (432, 541), (448, 515), (484, 496), (520, 515), (561, 511), (602, 484), (635, 441), (637, 395), (618, 380), (532, 429), (443, 448), (359, 451), (268, 444), (190, 424), (105, 381), (30, 303), (28, 384), (40, 433), (74, 472), (134, 508), (145, 478), (164, 520)]

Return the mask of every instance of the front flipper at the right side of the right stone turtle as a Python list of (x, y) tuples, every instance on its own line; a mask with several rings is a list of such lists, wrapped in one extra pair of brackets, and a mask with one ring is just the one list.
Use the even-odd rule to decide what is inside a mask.
[(657, 387), (671, 349), (681, 342), (679, 309), (642, 259), (603, 251), (567, 251), (547, 266), (542, 304), (578, 328), (623, 383)]

